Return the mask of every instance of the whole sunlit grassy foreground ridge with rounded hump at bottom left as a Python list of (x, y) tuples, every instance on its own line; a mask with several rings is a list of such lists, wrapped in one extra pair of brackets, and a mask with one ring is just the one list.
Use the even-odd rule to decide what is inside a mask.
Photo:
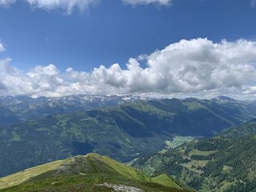
[(166, 174), (148, 177), (107, 156), (89, 153), (0, 178), (0, 191), (183, 191)]

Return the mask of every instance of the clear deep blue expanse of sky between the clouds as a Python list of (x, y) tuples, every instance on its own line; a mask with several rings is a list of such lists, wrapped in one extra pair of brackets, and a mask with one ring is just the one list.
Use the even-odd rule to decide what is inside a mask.
[(23, 1), (0, 8), (4, 56), (21, 69), (55, 64), (91, 71), (104, 64), (124, 65), (181, 39), (256, 38), (256, 8), (246, 0), (176, 0), (169, 7), (101, 1), (83, 13), (31, 9)]

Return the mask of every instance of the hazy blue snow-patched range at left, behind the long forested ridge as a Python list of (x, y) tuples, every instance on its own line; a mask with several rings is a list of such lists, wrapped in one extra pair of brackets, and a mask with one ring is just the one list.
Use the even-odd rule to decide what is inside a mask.
[(55, 98), (0, 96), (0, 125), (137, 101), (136, 96), (72, 95)]

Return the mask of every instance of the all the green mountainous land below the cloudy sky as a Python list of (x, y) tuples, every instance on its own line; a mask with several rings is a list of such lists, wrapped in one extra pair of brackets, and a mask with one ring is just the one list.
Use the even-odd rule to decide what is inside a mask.
[(255, 101), (1, 96), (0, 110), (2, 191), (256, 190)]

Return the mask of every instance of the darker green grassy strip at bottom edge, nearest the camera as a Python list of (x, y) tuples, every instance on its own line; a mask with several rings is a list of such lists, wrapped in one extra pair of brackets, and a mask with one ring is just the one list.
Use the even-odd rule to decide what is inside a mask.
[(50, 179), (37, 180), (36, 182), (23, 183), (12, 188), (0, 190), (1, 192), (32, 192), (32, 191), (113, 191), (111, 188), (99, 186), (102, 183), (113, 183), (115, 185), (127, 185), (143, 189), (147, 192), (153, 191), (182, 191), (156, 183), (135, 182), (117, 177), (115, 174), (88, 174), (88, 175), (62, 175)]

